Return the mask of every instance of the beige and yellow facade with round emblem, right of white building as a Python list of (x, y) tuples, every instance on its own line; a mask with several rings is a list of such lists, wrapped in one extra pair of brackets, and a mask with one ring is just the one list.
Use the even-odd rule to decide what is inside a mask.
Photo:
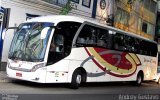
[[(105, 4), (101, 4), (102, 1)], [(99, 0), (99, 2), (97, 16), (103, 16), (106, 22), (109, 19), (109, 24), (111, 22), (114, 27), (154, 40), (156, 0)], [(106, 5), (104, 11), (101, 5)], [(106, 16), (102, 12), (106, 12)]]

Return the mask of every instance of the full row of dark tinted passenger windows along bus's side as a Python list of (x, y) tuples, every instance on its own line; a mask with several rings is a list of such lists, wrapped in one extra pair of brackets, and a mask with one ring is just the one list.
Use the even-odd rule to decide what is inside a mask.
[(147, 56), (157, 56), (157, 44), (124, 33), (85, 25), (77, 38), (77, 47), (101, 47)]

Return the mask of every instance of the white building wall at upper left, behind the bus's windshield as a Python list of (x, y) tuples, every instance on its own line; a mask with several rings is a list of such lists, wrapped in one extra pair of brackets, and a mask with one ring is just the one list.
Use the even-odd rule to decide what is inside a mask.
[[(4, 8), (10, 8), (9, 27), (18, 26), (20, 23), (26, 21), (26, 13), (35, 15), (51, 15), (58, 14), (60, 7), (48, 5), (45, 3), (24, 2), (21, 0), (2, 0)], [(55, 9), (56, 8), (56, 9)], [(8, 51), (10, 43), (13, 38), (13, 30), (8, 30), (4, 40), (2, 62), (7, 62)]]

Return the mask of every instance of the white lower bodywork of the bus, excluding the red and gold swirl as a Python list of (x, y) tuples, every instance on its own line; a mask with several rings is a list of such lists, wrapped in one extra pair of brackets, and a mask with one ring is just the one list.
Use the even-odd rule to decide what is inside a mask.
[[(9, 77), (11, 78), (18, 78), (21, 80), (33, 82), (36, 82), (33, 79), (40, 77), (41, 80), (38, 82), (42, 83), (70, 83), (73, 72), (77, 68), (83, 67), (88, 74), (87, 82), (135, 81), (140, 70), (144, 72), (144, 80), (152, 80), (155, 77), (154, 75), (156, 74), (156, 58), (146, 57), (143, 55), (138, 55), (138, 57), (143, 65), (137, 66), (136, 72), (129, 77), (116, 77), (107, 74), (107, 72), (105, 72), (105, 74), (103, 75), (98, 75), (99, 73), (104, 73), (104, 71), (92, 61), (92, 58), (88, 59), (87, 61), (89, 55), (87, 54), (85, 48), (73, 48), (71, 54), (65, 59), (53, 65), (49, 65), (47, 66), (47, 68), (39, 69), (36, 72), (29, 73), (23, 71), (15, 71), (7, 67), (7, 73), (9, 73)], [(104, 62), (102, 62), (101, 64), (103, 65)], [(12, 66), (16, 66), (16, 64), (12, 63)], [(31, 64), (27, 65), (25, 63), (25, 66), (29, 67), (31, 66)], [(47, 73), (44, 71), (45, 69), (47, 69)], [(22, 73), (23, 77), (16, 76), (16, 73)]]

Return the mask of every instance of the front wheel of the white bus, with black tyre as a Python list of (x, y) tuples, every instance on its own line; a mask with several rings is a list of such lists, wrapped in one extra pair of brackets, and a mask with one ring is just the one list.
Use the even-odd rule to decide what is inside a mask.
[(80, 70), (76, 70), (72, 75), (71, 88), (78, 89), (81, 83), (82, 83), (82, 72)]

